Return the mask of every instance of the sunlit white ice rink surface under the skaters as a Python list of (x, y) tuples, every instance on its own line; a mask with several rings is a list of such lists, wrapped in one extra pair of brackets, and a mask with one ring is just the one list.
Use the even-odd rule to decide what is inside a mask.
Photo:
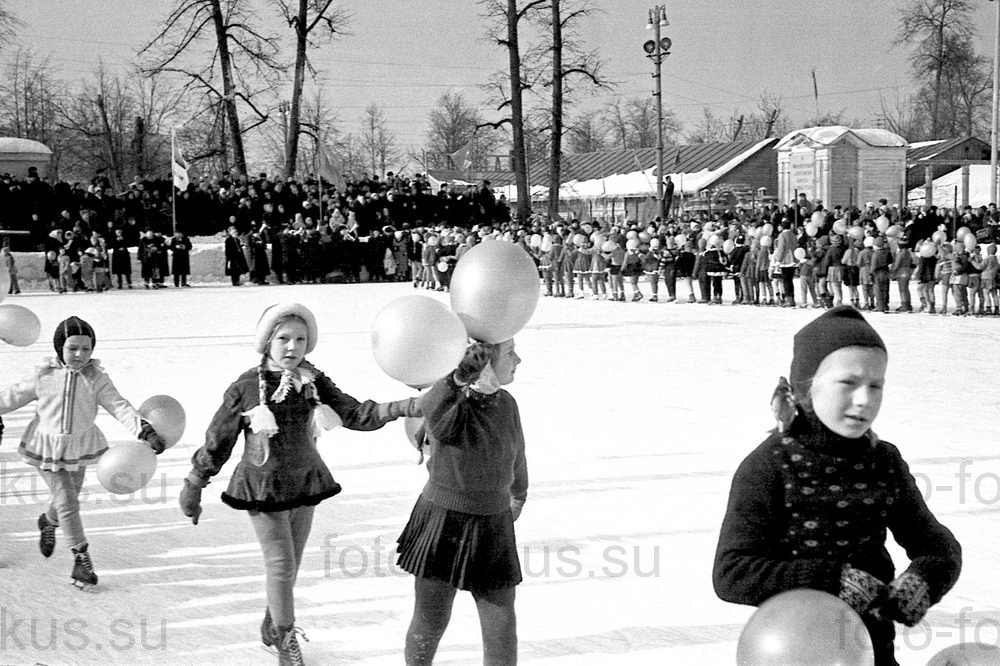
[[(95, 357), (119, 390), (136, 405), (176, 397), (188, 426), (134, 497), (109, 495), (88, 473), (83, 519), (101, 577), (88, 594), (69, 585), (61, 534), (51, 559), (38, 553), (47, 491), (16, 453), (31, 409), (4, 417), (0, 663), (274, 663), (259, 642), (257, 543), (247, 517), (219, 500), (236, 460), (207, 488), (192, 526), (177, 507), (189, 458), (224, 389), (256, 362), (254, 326), (277, 301), (316, 313), (310, 358), (342, 389), (378, 400), (412, 395), (376, 365), (370, 328), (386, 303), (413, 293), (409, 284), (199, 286), (8, 300), (38, 314), (42, 337), (29, 348), (0, 345), (0, 381), (30, 372), (52, 352), (55, 324), (76, 314), (94, 325)], [(524, 360), (510, 387), (531, 476), (517, 523), (522, 662), (735, 662), (753, 609), (712, 591), (718, 527), (733, 471), (772, 425), (768, 401), (787, 372), (792, 334), (818, 312), (541, 299), (517, 336)], [(1000, 643), (1000, 320), (869, 319), (889, 346), (876, 429), (900, 446), (965, 551), (955, 589), (897, 641), (902, 664), (925, 664), (960, 640)], [(106, 414), (99, 424), (109, 440), (128, 437)], [(296, 590), (306, 660), (401, 663), (412, 579), (392, 552), (425, 469), (402, 423), (339, 429), (320, 446), (344, 492), (317, 510)], [(480, 662), (475, 607), (460, 595), (437, 663)]]

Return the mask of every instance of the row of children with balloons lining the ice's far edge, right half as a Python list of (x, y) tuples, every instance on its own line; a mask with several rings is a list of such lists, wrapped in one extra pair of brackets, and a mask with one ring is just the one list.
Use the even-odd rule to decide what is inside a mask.
[[(789, 229), (788, 224), (783, 226)], [(811, 300), (813, 307), (834, 307), (845, 302), (846, 288), (846, 299), (856, 308), (888, 312), (890, 283), (895, 281), (896, 312), (905, 313), (914, 311), (910, 282), (915, 279), (921, 312), (946, 313), (951, 296), (953, 314), (1000, 315), (995, 244), (983, 253), (978, 245), (928, 241), (918, 253), (907, 239), (887, 238), (872, 230), (855, 233), (858, 238), (832, 232), (816, 238), (801, 234), (795, 237), (794, 250), (789, 250), (794, 260), (782, 265), (773, 251), (775, 241), (760, 229), (749, 230), (749, 242), (743, 233), (732, 242), (724, 241), (724, 230), (715, 234), (711, 229), (674, 236), (652, 227), (642, 232), (612, 228), (607, 237), (571, 237), (562, 229), (540, 242), (536, 239), (528, 251), (538, 262), (546, 296), (585, 298), (589, 292), (595, 299), (621, 302), (626, 300), (627, 279), (633, 302), (644, 298), (642, 282), (650, 290), (649, 300), (658, 301), (662, 282), (667, 302), (677, 300), (681, 283), (687, 302), (720, 304), (728, 279), (735, 293), (733, 304), (808, 307)], [(788, 288), (790, 280), (799, 284), (801, 303)]]

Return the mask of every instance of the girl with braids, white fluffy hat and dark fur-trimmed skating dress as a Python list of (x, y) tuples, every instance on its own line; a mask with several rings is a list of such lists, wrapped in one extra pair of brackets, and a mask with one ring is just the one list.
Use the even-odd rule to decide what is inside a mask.
[(282, 303), (264, 310), (254, 345), (260, 361), (226, 389), (180, 495), (181, 510), (197, 525), (202, 488), (243, 434), (243, 459), (222, 501), (250, 515), (266, 572), (261, 640), (277, 646), (279, 663), (293, 666), (304, 663), (293, 593), (313, 511), (340, 492), (316, 449), (317, 436), (338, 425), (376, 430), (400, 416), (420, 416), (414, 398), (359, 402), (341, 391), (306, 360), (316, 342), (316, 318), (305, 306)]

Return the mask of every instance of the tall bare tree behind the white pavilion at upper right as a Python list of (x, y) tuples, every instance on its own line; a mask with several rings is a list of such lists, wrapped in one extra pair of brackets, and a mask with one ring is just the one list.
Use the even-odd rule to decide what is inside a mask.
[(917, 78), (930, 84), (930, 132), (939, 138), (941, 101), (948, 60), (948, 45), (975, 34), (971, 0), (913, 0), (900, 11), (896, 44), (911, 49), (910, 63)]

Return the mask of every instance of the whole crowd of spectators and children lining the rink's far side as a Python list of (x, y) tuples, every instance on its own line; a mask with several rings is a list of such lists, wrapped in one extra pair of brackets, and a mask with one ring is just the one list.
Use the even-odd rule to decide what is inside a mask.
[[(874, 254), (885, 261), (882, 247), (889, 253), (887, 279), (898, 279), (921, 270), (915, 250), (925, 239), (940, 248), (935, 260), (963, 250), (985, 260), (995, 251), (966, 247), (959, 232), (985, 248), (1000, 229), (994, 204), (911, 210), (883, 199), (860, 208), (826, 208), (804, 195), (786, 205), (712, 213), (671, 207), (666, 220), (547, 220), (538, 214), (514, 220), (488, 181), (434, 191), (422, 174), (365, 176), (342, 190), (265, 174), (202, 178), (178, 192), (176, 201), (171, 188), (171, 181), (136, 179), (116, 193), (103, 177), (51, 185), (36, 173), (24, 180), (5, 175), (0, 226), (26, 231), (26, 237), (14, 238), (46, 253), (54, 291), (131, 288), (132, 249), (146, 288), (167, 286), (171, 275), (174, 286), (188, 286), (190, 236), (220, 232), (234, 285), (244, 279), (410, 280), (415, 287), (445, 290), (461, 254), (491, 236), (521, 244), (552, 296), (623, 301), (628, 283), (633, 301), (644, 299), (642, 284), (657, 301), (662, 284), (664, 300), (676, 301), (678, 285), (684, 285), (683, 300), (715, 304), (721, 283), (731, 279), (737, 303), (791, 306), (811, 298), (822, 307), (839, 303), (847, 287), (852, 303), (880, 310), (887, 307), (885, 299), (875, 298), (884, 292), (881, 267), (864, 264)], [(13, 259), (7, 262), (14, 270)], [(938, 272), (936, 282), (942, 280)], [(796, 283), (803, 303), (796, 301)], [(933, 307), (926, 291), (920, 293), (923, 307)], [(900, 300), (901, 311), (912, 309), (902, 287)], [(968, 310), (967, 304), (959, 307)]]

